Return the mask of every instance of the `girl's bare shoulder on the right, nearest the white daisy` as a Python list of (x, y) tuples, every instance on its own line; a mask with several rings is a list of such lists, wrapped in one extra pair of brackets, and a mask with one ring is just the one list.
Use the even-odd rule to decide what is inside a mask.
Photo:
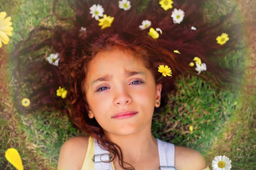
[(191, 148), (175, 146), (175, 168), (177, 170), (202, 170), (206, 168), (203, 155)]

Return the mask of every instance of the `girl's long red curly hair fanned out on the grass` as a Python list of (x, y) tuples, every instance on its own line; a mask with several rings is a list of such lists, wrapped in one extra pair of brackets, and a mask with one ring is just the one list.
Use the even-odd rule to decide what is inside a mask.
[[(76, 0), (75, 4), (71, 4), (68, 0), (76, 13), (76, 19), (74, 19), (57, 16), (55, 13), (57, 0), (55, 0), (53, 13), (60, 20), (71, 21), (73, 27), (68, 29), (60, 26), (36, 28), (31, 31), (27, 40), (16, 45), (11, 54), (17, 61), (17, 67), (13, 72), (14, 77), (18, 82), (29, 82), (33, 90), (29, 96), (32, 111), (44, 109), (60, 110), (66, 113), (77, 128), (96, 138), (103, 149), (114, 153), (113, 159), (117, 155), (122, 168), (124, 168), (122, 150), (118, 145), (107, 140), (95, 118), (90, 119), (87, 114), (89, 106), (85, 96), (85, 78), (88, 65), (95, 55), (114, 48), (132, 51), (134, 57), (152, 72), (155, 83), (162, 77), (162, 74), (158, 72), (159, 65), (168, 65), (172, 69), (172, 77), (161, 78), (158, 81), (162, 83), (161, 106), (155, 109), (158, 111), (166, 105), (168, 92), (175, 90), (176, 78), (181, 74), (195, 75), (211, 81), (218, 88), (228, 88), (227, 83), (234, 82), (236, 76), (233, 74), (234, 70), (223, 68), (215, 59), (224, 57), (231, 50), (244, 48), (238, 47), (242, 38), (241, 33), (244, 31), (242, 26), (246, 25), (248, 32), (255, 29), (255, 23), (235, 23), (228, 28), (222, 27), (224, 21), (233, 14), (235, 7), (230, 14), (220, 17), (218, 22), (203, 23), (202, 6), (205, 0), (174, 1), (173, 9), (182, 9), (185, 12), (180, 24), (173, 23), (170, 17), (173, 10), (163, 10), (159, 1), (150, 0), (147, 10), (142, 14), (138, 14), (135, 8), (142, 2), (130, 1), (132, 7), (125, 11), (118, 7), (118, 0)], [(99, 21), (91, 17), (89, 8), (94, 4), (102, 5), (104, 13), (114, 17), (110, 27), (101, 29), (98, 25)], [(158, 39), (153, 39), (148, 35), (150, 27), (145, 30), (139, 28), (143, 20), (151, 21), (153, 28), (161, 28), (162, 34)], [(191, 26), (197, 29), (191, 30)], [(80, 32), (81, 27), (85, 27), (86, 31)], [(21, 45), (28, 44), (32, 35), (39, 31), (48, 31), (51, 36), (19, 50)], [(227, 33), (230, 38), (224, 45), (216, 42), (216, 37), (222, 33)], [(34, 37), (39, 36), (42, 37), (42, 35)], [(248, 44), (253, 43), (253, 39), (256, 38), (251, 37)], [(45, 59), (38, 60), (40, 55), (30, 63), (26, 61), (26, 58), (20, 58), (22, 55), (25, 56), (45, 46), (52, 47), (56, 53), (60, 54), (58, 66), (49, 64)], [(175, 53), (174, 50), (179, 50), (180, 54)], [(225, 52), (216, 53), (218, 50), (225, 50)], [(202, 63), (207, 64), (207, 71), (199, 75), (194, 67), (189, 65), (196, 56), (201, 59)], [(33, 75), (37, 76), (33, 77)], [(59, 86), (65, 87), (68, 91), (65, 99), (56, 97), (56, 90)], [(19, 89), (16, 96), (18, 92)], [(16, 106), (20, 109), (18, 102)], [(134, 167), (124, 169), (134, 169)]]

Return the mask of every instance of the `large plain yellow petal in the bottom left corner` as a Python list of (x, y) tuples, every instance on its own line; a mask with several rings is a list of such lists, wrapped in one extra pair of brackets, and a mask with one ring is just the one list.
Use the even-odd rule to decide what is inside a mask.
[(19, 152), (14, 148), (9, 148), (5, 152), (6, 159), (18, 170), (23, 170), (23, 165)]

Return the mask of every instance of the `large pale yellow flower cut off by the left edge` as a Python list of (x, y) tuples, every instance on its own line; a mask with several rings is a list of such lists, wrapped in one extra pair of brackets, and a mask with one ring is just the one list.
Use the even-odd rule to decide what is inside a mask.
[(6, 12), (0, 12), (0, 48), (2, 47), (2, 42), (8, 44), (10, 39), (7, 35), (12, 36), (11, 31), (13, 30), (13, 28), (10, 27), (12, 25), (12, 22), (10, 22), (11, 17), (4, 19), (5, 17)]

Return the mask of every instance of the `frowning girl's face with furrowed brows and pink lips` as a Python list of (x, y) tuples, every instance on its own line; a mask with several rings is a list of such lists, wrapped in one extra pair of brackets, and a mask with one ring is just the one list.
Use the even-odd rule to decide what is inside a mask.
[[(94, 82), (98, 78), (101, 80)], [(162, 84), (156, 87), (152, 73), (134, 61), (132, 54), (121, 50), (98, 53), (90, 63), (86, 82), (89, 117), (95, 117), (104, 131), (128, 135), (151, 128), (154, 107), (160, 106)], [(126, 110), (138, 113), (127, 119), (112, 118)]]

